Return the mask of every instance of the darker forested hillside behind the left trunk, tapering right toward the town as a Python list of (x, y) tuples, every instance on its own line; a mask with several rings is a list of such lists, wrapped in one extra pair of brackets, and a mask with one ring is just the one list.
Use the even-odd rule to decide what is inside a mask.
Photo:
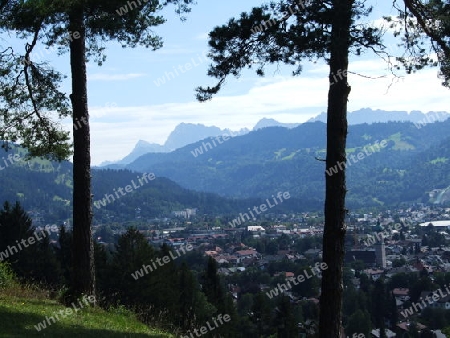
[[(21, 154), (21, 158), (25, 158), (25, 152), (18, 148), (4, 154), (5, 159), (7, 154)], [(172, 211), (185, 208), (198, 209), (199, 214), (231, 215), (242, 211), (243, 205), (252, 206), (262, 201), (261, 198), (238, 200), (213, 193), (191, 191), (165, 177), (158, 176), (147, 182), (141, 177), (141, 173), (130, 170), (92, 170), (94, 219), (97, 222), (135, 219), (137, 208), (140, 209), (140, 216), (145, 219), (165, 217)], [(122, 190), (122, 193), (119, 193), (119, 188), (125, 189), (127, 185), (133, 187), (132, 191), (126, 193)], [(70, 162), (20, 160), (0, 170), (1, 203), (19, 201), (26, 210), (44, 212), (41, 216), (45, 216), (50, 222), (71, 217), (72, 186)], [(292, 212), (297, 210), (299, 205), (298, 200), (292, 199), (274, 210)], [(319, 208), (319, 205), (313, 206)]]

